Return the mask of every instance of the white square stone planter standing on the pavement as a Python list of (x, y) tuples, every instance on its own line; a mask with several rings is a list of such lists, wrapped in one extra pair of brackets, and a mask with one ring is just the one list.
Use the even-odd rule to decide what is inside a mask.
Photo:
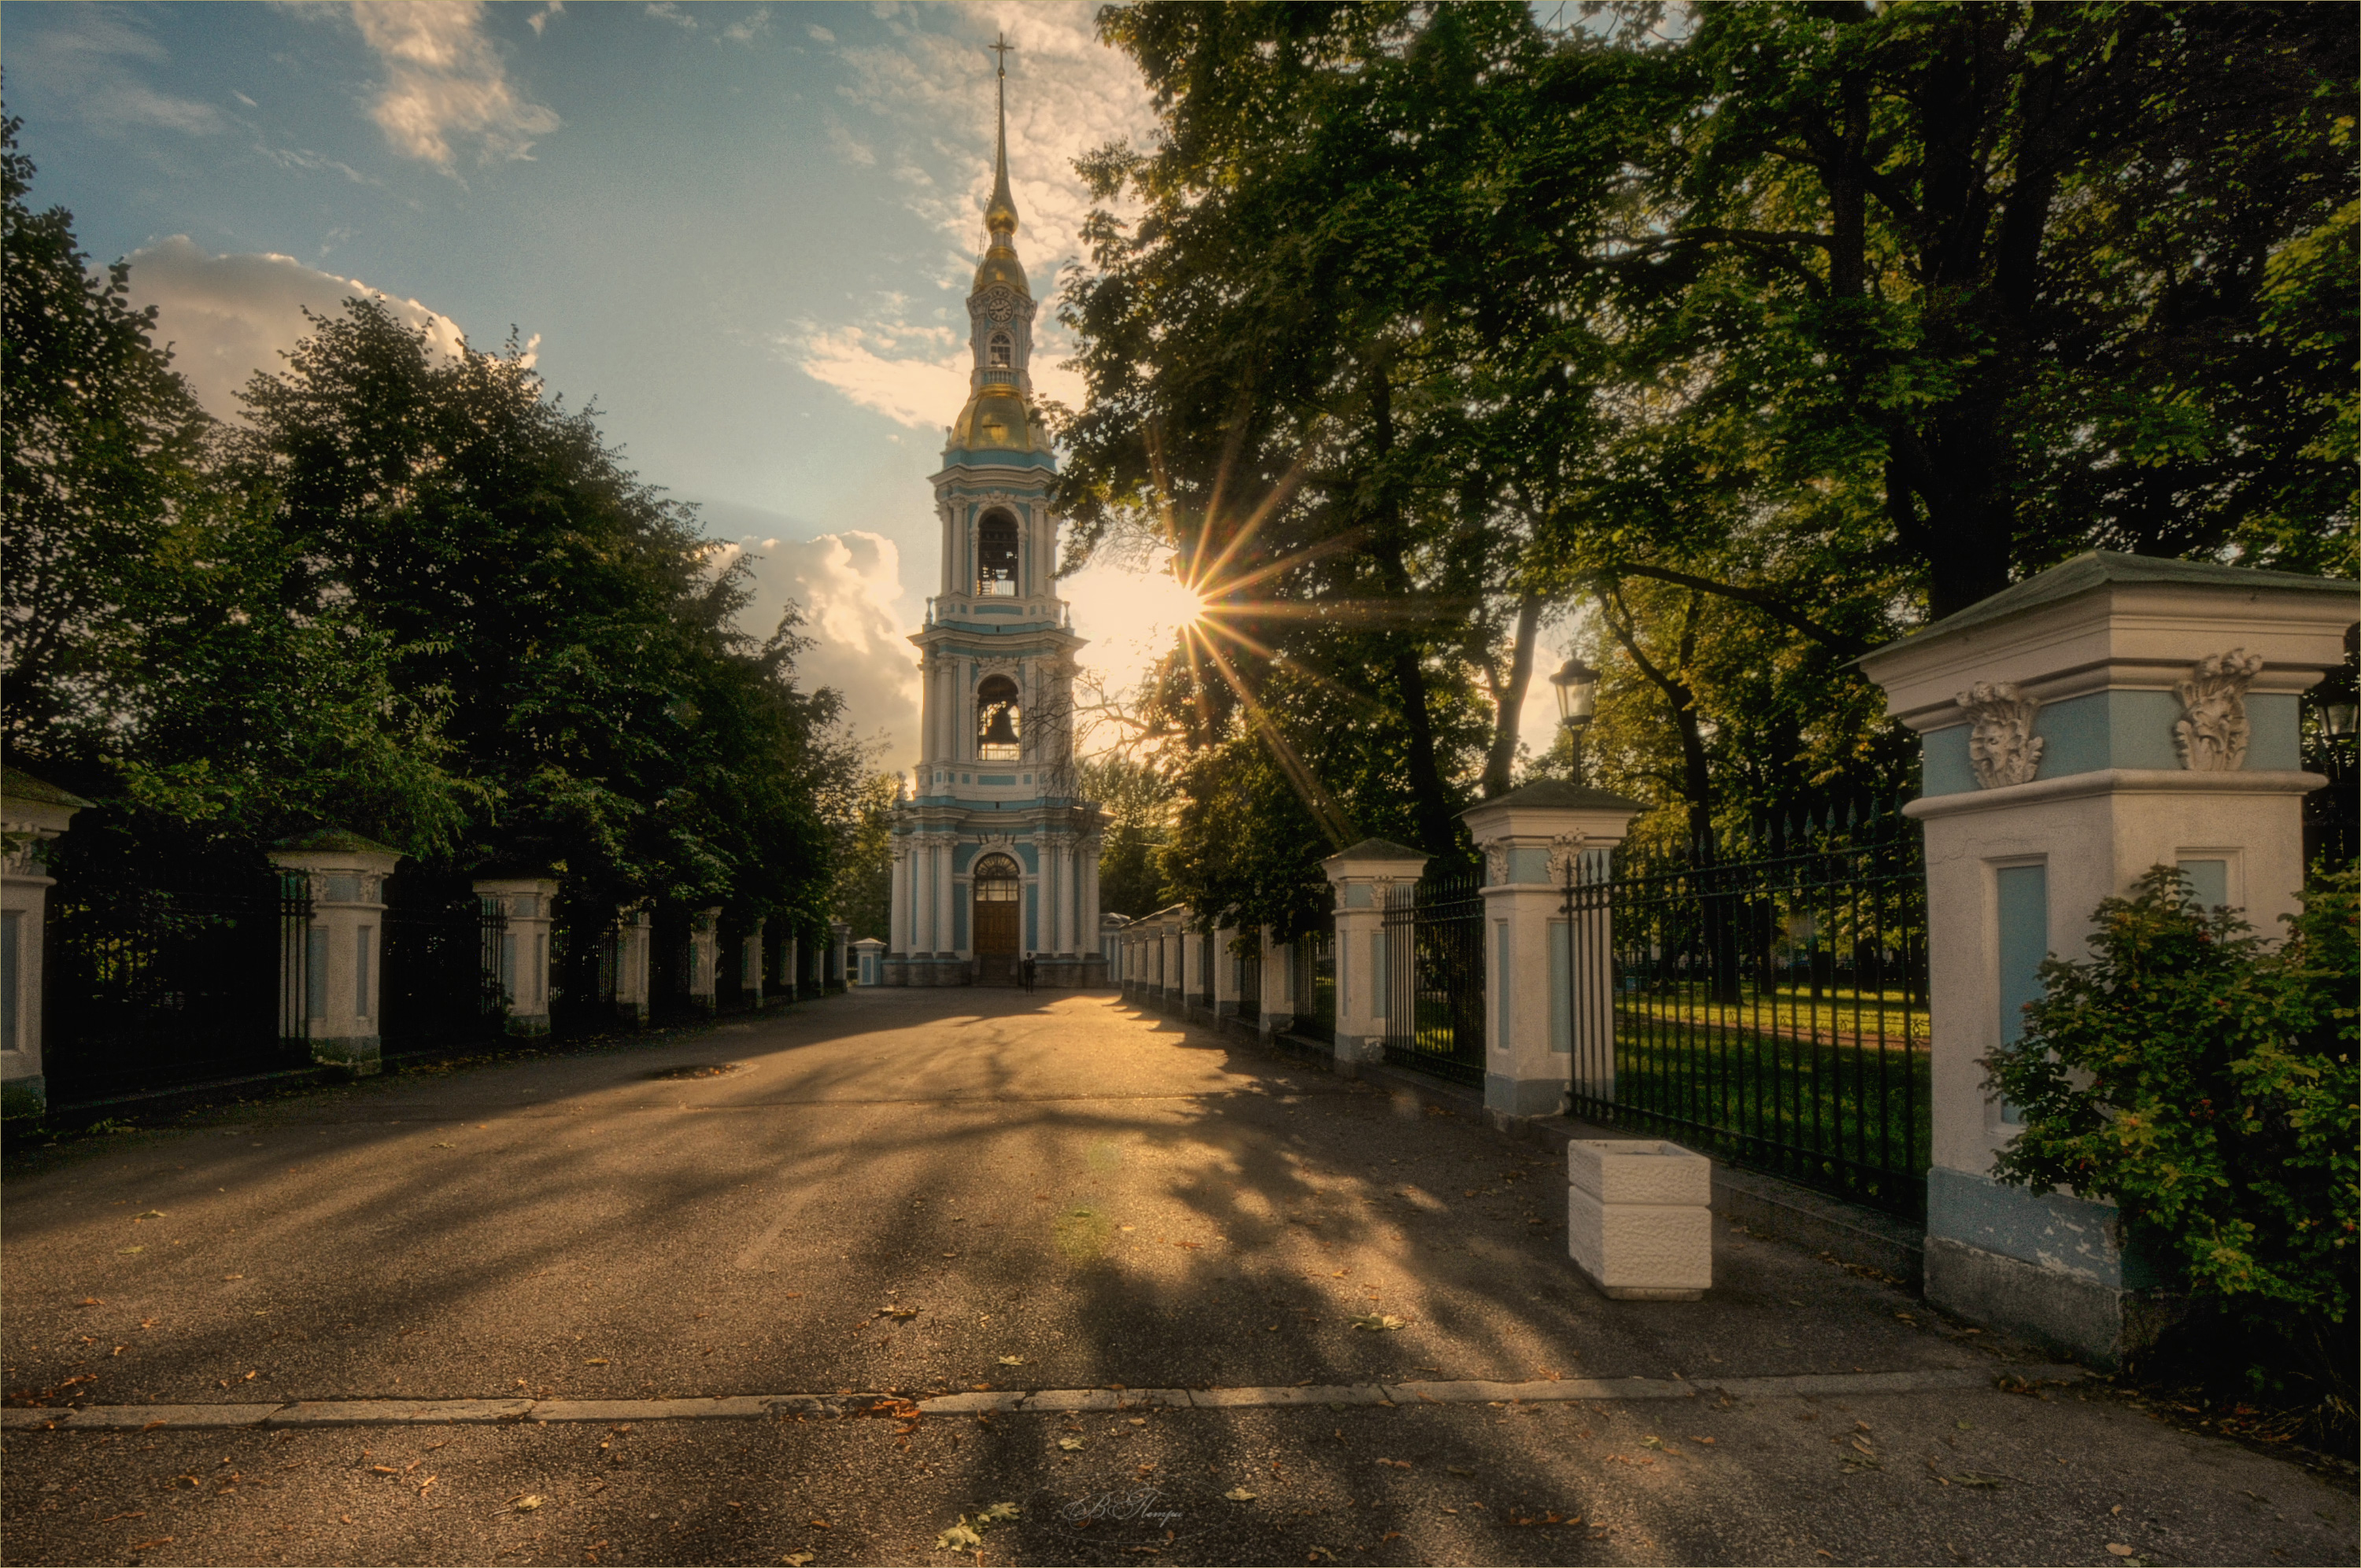
[(1695, 1301), (1714, 1282), (1714, 1164), (1655, 1138), (1565, 1145), (1565, 1249), (1615, 1301)]

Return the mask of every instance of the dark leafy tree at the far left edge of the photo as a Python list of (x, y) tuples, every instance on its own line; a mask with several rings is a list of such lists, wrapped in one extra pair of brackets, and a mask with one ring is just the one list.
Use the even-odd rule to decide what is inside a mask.
[[(323, 815), (453, 843), (442, 692), (349, 605), (297, 612), (295, 557), (222, 475), (222, 432), (0, 116), (0, 713), (14, 758), (168, 836), (267, 841)], [(92, 819), (90, 827), (94, 827)]]

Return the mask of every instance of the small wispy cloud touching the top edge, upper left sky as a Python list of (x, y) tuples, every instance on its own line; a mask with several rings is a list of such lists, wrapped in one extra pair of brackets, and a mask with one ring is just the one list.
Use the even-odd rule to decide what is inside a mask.
[(531, 158), (534, 137), (562, 125), (508, 83), (482, 0), (354, 0), (352, 19), (385, 64), (368, 118), (401, 156), (449, 170), (460, 139), (482, 163)]

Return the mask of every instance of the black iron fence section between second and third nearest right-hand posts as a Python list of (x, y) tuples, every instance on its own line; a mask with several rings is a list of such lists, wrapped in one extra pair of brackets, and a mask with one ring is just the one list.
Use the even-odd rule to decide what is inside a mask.
[(1483, 1086), (1483, 876), (1428, 871), (1386, 890), (1374, 997), (1386, 1060)]

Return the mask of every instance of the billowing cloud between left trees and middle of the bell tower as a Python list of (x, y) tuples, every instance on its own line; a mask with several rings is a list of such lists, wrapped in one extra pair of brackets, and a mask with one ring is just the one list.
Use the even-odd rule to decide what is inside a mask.
[(701, 501), (699, 512), (708, 531), (744, 536), (725, 545), (730, 555), (756, 557), (741, 628), (767, 638), (786, 600), (796, 600), (803, 635), (817, 642), (796, 659), (800, 685), (843, 692), (845, 718), (864, 737), (883, 730), (888, 756), (916, 749), (918, 652), (902, 607), (900, 548), (866, 529), (807, 536), (810, 524), (727, 501)]

